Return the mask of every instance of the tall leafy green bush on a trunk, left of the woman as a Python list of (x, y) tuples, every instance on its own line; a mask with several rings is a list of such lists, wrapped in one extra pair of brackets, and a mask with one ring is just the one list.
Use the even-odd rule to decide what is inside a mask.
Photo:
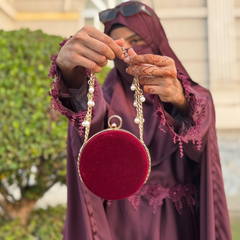
[[(65, 181), (67, 120), (50, 108), (48, 78), (61, 37), (0, 31), (0, 191), (15, 183), (35, 200)], [(29, 184), (30, 175), (35, 184)]]

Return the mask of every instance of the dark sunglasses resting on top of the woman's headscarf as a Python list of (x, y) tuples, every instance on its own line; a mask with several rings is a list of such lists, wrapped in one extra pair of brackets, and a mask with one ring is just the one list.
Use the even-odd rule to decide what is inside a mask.
[(130, 3), (116, 8), (107, 9), (99, 13), (99, 19), (102, 23), (108, 22), (116, 18), (118, 12), (124, 17), (133, 16), (137, 13), (143, 12), (148, 16), (152, 16), (152, 13), (141, 3)]

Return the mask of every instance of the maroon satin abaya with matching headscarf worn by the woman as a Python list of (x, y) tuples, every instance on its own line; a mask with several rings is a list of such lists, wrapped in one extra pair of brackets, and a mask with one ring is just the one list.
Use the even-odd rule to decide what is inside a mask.
[[(138, 54), (154, 53), (174, 59), (191, 109), (189, 118), (182, 118), (158, 96), (145, 94), (144, 141), (152, 158), (149, 180), (128, 199), (111, 202), (100, 199), (81, 183), (77, 171), (78, 151), (83, 143), (81, 122), (86, 111), (76, 112), (53, 57), (50, 74), (57, 81), (53, 83), (51, 105), (70, 120), (64, 240), (232, 239), (211, 94), (189, 78), (155, 13), (148, 9), (155, 17), (137, 14), (124, 18), (119, 14), (106, 24), (105, 33), (109, 33), (113, 24), (121, 23), (146, 41), (136, 48)], [(130, 84), (124, 63), (117, 60), (103, 90), (95, 84), (91, 135), (104, 129), (108, 116), (118, 114), (123, 118), (123, 128), (138, 136)]]

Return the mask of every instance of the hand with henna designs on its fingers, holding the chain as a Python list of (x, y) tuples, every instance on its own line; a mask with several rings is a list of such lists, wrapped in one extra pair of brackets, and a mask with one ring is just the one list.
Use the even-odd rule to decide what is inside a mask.
[[(188, 112), (188, 102), (183, 87), (177, 79), (177, 69), (172, 58), (154, 54), (136, 55), (133, 49), (128, 51), (125, 62), (131, 64), (127, 73), (140, 76), (143, 91), (158, 94), (161, 101), (172, 103), (183, 115)], [(188, 115), (188, 114), (187, 114)]]

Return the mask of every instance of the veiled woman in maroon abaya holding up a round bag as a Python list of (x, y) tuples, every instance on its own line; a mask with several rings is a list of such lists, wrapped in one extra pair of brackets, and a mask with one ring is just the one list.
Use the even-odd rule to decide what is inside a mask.
[[(130, 1), (100, 19), (105, 34), (84, 27), (52, 56), (50, 76), (57, 80), (51, 105), (70, 120), (63, 239), (231, 240), (211, 94), (190, 79), (151, 8)], [(127, 59), (122, 45), (133, 47)], [(123, 129), (139, 135), (130, 90), (137, 73), (146, 98), (144, 142), (152, 158), (147, 183), (128, 199), (111, 202), (91, 193), (77, 170), (87, 79), (108, 59), (115, 67), (103, 89), (95, 84), (90, 135), (113, 114), (122, 117)]]

